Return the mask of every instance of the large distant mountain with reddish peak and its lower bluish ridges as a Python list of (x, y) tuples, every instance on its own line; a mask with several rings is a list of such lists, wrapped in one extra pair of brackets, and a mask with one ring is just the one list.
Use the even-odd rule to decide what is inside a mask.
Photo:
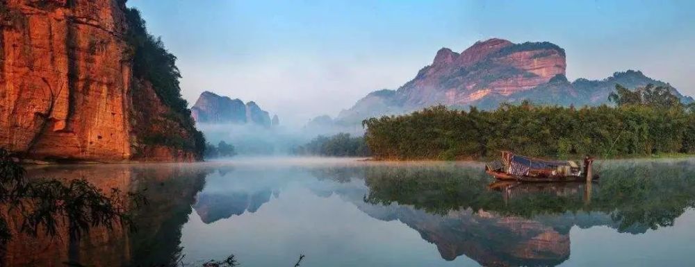
[[(570, 83), (565, 76), (565, 51), (550, 42), (514, 44), (490, 39), (476, 42), (461, 53), (437, 51), (432, 64), (397, 90), (382, 89), (361, 98), (338, 114), (337, 123), (355, 123), (368, 117), (402, 114), (443, 104), (483, 110), (502, 102), (557, 105), (600, 105), (606, 103), (615, 84), (634, 89), (648, 83), (667, 85), (641, 71), (616, 72), (603, 80), (580, 78)], [(673, 89), (683, 102), (693, 98)]]

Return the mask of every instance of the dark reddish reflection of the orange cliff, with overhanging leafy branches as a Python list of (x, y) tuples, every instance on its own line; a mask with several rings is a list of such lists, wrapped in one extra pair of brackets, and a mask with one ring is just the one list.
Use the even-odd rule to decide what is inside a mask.
[[(6, 237), (0, 266), (179, 266), (181, 227), (209, 172), (175, 165), (34, 166), (25, 177), (9, 157), (0, 162), (3, 190), (10, 192), (0, 205)], [(22, 177), (8, 178), (13, 173)]]

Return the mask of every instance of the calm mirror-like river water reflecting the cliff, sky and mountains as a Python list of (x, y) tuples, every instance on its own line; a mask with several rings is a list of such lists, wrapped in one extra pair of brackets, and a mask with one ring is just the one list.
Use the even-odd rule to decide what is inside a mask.
[[(31, 167), (143, 193), (138, 232), (16, 236), (6, 266), (695, 266), (695, 160), (598, 164), (593, 184), (492, 184), (481, 164), (266, 159)], [(69, 253), (70, 245), (78, 253)]]

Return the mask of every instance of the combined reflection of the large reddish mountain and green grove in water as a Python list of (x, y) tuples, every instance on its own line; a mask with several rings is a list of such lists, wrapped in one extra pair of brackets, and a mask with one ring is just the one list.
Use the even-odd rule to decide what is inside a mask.
[[(602, 179), (592, 184), (493, 183), (480, 168), (460, 166), (373, 166), (354, 175), (336, 170), (335, 177), (343, 182), (363, 175), (363, 198), (346, 198), (361, 211), (408, 225), (443, 259), (466, 255), (484, 266), (555, 266), (569, 258), (573, 226), (639, 234), (672, 226), (694, 206), (692, 164), (603, 167)], [(317, 177), (326, 179), (330, 171)]]

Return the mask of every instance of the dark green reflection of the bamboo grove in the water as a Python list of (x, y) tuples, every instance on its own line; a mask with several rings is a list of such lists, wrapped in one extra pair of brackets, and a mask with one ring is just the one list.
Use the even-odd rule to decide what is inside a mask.
[[(491, 178), (475, 168), (370, 167), (364, 200), (371, 204), (413, 205), (431, 214), (459, 209), (534, 218), (566, 212), (602, 212), (620, 232), (644, 232), (673, 225), (694, 207), (695, 171), (682, 164), (614, 164), (598, 183), (508, 184), (490, 190)], [(589, 199), (585, 193), (589, 190)], [(515, 191), (509, 198), (505, 191)]]

